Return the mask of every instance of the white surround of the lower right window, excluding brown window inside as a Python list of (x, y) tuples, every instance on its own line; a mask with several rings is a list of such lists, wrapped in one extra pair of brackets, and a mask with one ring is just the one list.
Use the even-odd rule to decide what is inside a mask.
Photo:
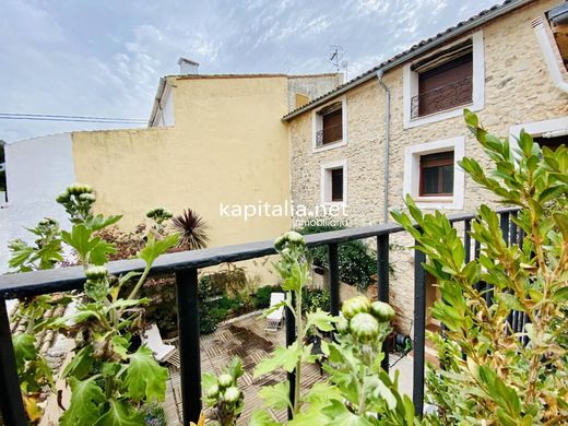
[[(453, 150), (453, 196), (421, 197), (421, 156)], [(458, 162), (465, 155), (465, 137), (406, 146), (404, 151), (403, 197), (411, 194), (421, 209), (463, 210), (465, 174)]]

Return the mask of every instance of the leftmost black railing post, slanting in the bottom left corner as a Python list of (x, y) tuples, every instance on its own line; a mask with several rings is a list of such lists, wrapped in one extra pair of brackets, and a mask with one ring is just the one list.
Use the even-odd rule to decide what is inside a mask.
[(0, 297), (0, 407), (4, 425), (28, 424), (20, 391), (10, 319), (2, 297)]

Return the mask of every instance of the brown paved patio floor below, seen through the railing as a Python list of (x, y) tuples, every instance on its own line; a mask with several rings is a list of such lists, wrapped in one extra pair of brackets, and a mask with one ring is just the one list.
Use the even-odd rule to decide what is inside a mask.
[[(264, 319), (258, 315), (245, 316), (221, 326), (214, 333), (201, 338), (201, 370), (203, 372), (220, 374), (221, 369), (228, 364), (230, 358), (238, 356), (242, 359), (245, 375), (239, 379), (239, 389), (245, 394), (245, 410), (239, 417), (238, 424), (246, 425), (253, 411), (262, 406), (263, 401), (258, 398), (258, 391), (263, 386), (271, 386), (286, 380), (283, 371), (273, 372), (253, 379), (255, 366), (264, 357), (270, 356), (272, 351), (280, 344), (284, 344), (285, 332), (264, 331)], [(391, 354), (391, 365), (398, 359)], [(391, 376), (395, 370), (400, 371), (401, 392), (412, 395), (412, 359), (402, 358), (391, 369)], [(168, 425), (181, 424), (181, 389), (179, 370), (174, 367), (169, 369), (170, 378), (167, 383), (166, 402), (164, 410)], [(301, 388), (307, 389), (321, 378), (317, 365), (307, 365), (303, 369)], [(275, 421), (284, 422), (286, 412), (284, 410), (269, 410)]]

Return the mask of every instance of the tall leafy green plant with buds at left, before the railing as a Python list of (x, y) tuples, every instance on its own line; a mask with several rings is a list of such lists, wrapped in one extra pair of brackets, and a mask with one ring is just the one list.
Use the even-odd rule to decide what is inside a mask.
[[(131, 347), (132, 336), (141, 330), (143, 306), (149, 303), (149, 299), (138, 296), (154, 260), (175, 246), (178, 237), (170, 235), (156, 239), (150, 234), (139, 253), (146, 264), (144, 271), (111, 276), (104, 264), (116, 248), (96, 234), (118, 222), (120, 216), (94, 215), (92, 206), (95, 200), (91, 187), (70, 186), (57, 201), (70, 216), (71, 230), (59, 232), (52, 222), (40, 224), (45, 229), (35, 234), (42, 242), (36, 241), (37, 247), (31, 250), (19, 247), (22, 250), (14, 251), (11, 262), (20, 269), (54, 268), (56, 262), (52, 259), (59, 258), (49, 256), (45, 261), (40, 252), (49, 241), (58, 241), (59, 248), (64, 242), (74, 250), (85, 270), (84, 294), (69, 297), (76, 301), (76, 310), (66, 317), (43, 321), (35, 329), (54, 329), (79, 336), (75, 355), (63, 371), (72, 395), (60, 424), (140, 424), (144, 421), (141, 409), (153, 400), (164, 399), (167, 370), (155, 362), (147, 347)], [(134, 279), (135, 284), (128, 297), (120, 297), (122, 286)], [(40, 310), (43, 301), (43, 298), (36, 298), (29, 309)], [(19, 351), (25, 354), (25, 364), (20, 369), (21, 380), (29, 387), (29, 381), (25, 380), (29, 376), (26, 366), (37, 359), (37, 353), (31, 350), (33, 342), (29, 338), (16, 334), (14, 340)], [(36, 371), (44, 370), (42, 365), (35, 364)], [(44, 377), (47, 376), (44, 374)], [(40, 383), (37, 378), (36, 381)]]

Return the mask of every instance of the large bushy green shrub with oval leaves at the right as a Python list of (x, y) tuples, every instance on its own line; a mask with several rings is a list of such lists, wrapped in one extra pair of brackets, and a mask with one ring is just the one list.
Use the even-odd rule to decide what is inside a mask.
[[(494, 168), (485, 171), (473, 158), (460, 166), (501, 203), (521, 209), (513, 222), (524, 238), (508, 245), (498, 215), (482, 205), (470, 234), (481, 253), (465, 262), (463, 242), (445, 215), (423, 214), (410, 197), (410, 216), (393, 214), (426, 253), (424, 268), (441, 292), (431, 313), (446, 326), (448, 340), (431, 336), (445, 368), (427, 375), (430, 401), (438, 406), (428, 422), (565, 424), (568, 151), (541, 150), (524, 131), (517, 149), (489, 134), (469, 110), (465, 121)], [(490, 303), (477, 287), (482, 281), (493, 287)], [(520, 332), (507, 320), (512, 312), (528, 318)]]

